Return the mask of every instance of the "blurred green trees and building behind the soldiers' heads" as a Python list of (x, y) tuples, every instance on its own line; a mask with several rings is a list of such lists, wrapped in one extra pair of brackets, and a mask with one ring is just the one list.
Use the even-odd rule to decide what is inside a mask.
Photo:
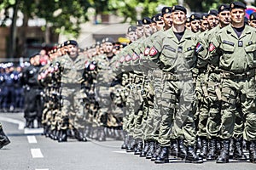
[[(131, 24), (160, 13), (164, 6), (181, 4), (203, 13), (232, 0), (0, 0), (0, 62), (23, 62), (28, 56), (76, 39), (85, 48), (113, 37), (125, 37)], [(254, 0), (247, 14), (255, 11)]]

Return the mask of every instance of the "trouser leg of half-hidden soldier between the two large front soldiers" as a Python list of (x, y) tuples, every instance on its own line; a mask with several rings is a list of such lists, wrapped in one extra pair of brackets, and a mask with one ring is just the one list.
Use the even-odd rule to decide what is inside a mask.
[(207, 121), (207, 138), (218, 138), (219, 127), (221, 123), (221, 97), (220, 97), (220, 75), (216, 72), (210, 72), (208, 77), (207, 91), (209, 94), (209, 114)]

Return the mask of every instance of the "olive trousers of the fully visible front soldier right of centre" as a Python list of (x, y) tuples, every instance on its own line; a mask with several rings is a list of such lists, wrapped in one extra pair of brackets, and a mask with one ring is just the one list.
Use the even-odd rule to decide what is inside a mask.
[[(175, 121), (182, 129), (186, 145), (195, 144), (195, 122), (192, 113), (194, 87), (192, 78), (185, 81), (166, 80), (162, 94), (162, 119), (160, 122), (159, 142), (168, 146), (172, 137), (172, 126)], [(173, 115), (176, 113), (175, 120)]]

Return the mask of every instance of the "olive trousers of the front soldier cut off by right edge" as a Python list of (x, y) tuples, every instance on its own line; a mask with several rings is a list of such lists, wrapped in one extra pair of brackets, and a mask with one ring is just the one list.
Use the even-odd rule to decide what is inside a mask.
[[(247, 79), (224, 79), (222, 82), (222, 111), (220, 138), (230, 139), (234, 133), (237, 104), (244, 117), (243, 137), (247, 141), (256, 140), (256, 93), (254, 77)], [(237, 98), (240, 104), (237, 103)]]

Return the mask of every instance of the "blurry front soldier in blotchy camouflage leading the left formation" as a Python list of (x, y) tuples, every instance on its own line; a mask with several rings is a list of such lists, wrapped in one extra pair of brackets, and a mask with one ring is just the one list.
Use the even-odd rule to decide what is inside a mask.
[(74, 40), (64, 42), (67, 54), (55, 59), (62, 67), (61, 74), (61, 120), (58, 122), (59, 142), (67, 141), (67, 130), (74, 132), (79, 141), (87, 141), (84, 134), (84, 82), (83, 72), (86, 58), (79, 55), (79, 44)]

